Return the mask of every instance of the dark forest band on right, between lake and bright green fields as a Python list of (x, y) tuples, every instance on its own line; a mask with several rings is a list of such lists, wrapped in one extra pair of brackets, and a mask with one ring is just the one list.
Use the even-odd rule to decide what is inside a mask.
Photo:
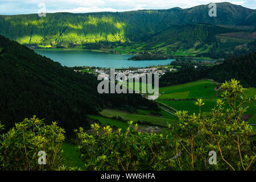
[(222, 64), (212, 67), (198, 64), (199, 66), (195, 68), (193, 62), (189, 64), (189, 61), (173, 61), (171, 65), (181, 65), (181, 69), (179, 72), (168, 72), (162, 76), (159, 80), (159, 86), (182, 84), (202, 78), (209, 78), (218, 82), (239, 78), (241, 84), (245, 87), (256, 86), (254, 79), (256, 78), (256, 52), (228, 57)]

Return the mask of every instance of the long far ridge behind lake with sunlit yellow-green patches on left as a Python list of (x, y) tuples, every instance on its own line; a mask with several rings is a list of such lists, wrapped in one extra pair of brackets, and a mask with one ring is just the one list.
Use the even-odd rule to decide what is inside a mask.
[(123, 13), (53, 13), (39, 17), (1, 15), (0, 34), (26, 45), (65, 46), (98, 42), (144, 42), (174, 25), (196, 23), (254, 26), (254, 10), (231, 3), (217, 3), (217, 17), (208, 5), (189, 9), (139, 10)]

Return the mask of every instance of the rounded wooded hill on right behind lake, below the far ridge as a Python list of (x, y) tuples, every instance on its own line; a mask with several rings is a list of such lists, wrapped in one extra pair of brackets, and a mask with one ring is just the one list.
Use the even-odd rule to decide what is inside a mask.
[[(234, 38), (237, 34), (242, 38)], [(253, 47), (249, 46), (249, 43), (256, 39), (253, 34), (253, 32), (202, 23), (172, 26), (149, 38), (146, 44), (138, 44), (137, 49), (141, 48), (144, 52), (161, 53), (169, 57), (204, 56), (218, 59), (226, 55), (251, 51)], [(249, 39), (245, 35), (252, 38)]]

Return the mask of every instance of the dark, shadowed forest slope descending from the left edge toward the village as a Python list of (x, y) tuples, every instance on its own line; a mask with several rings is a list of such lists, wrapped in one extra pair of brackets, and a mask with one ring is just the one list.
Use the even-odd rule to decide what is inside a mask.
[(139, 94), (98, 94), (97, 77), (75, 73), (3, 36), (0, 48), (0, 121), (6, 129), (36, 114), (69, 132), (88, 126), (86, 115), (105, 106), (157, 107)]

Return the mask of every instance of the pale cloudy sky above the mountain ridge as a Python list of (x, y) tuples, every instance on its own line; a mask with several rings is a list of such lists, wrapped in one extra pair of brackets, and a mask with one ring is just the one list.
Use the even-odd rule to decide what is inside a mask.
[[(32, 14), (44, 12), (90, 13), (100, 11), (131, 11), (142, 9), (188, 8), (207, 5), (210, 2), (230, 2), (236, 5), (256, 9), (256, 0), (205, 1), (205, 0), (0, 0), (1, 15)], [(42, 5), (43, 3), (43, 5)]]

